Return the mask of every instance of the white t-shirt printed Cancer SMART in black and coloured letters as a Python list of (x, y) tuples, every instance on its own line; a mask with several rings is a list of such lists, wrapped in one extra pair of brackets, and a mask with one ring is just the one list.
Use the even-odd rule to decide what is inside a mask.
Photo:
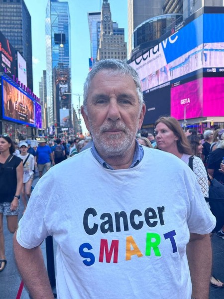
[(33, 248), (53, 235), (58, 299), (190, 299), (189, 234), (215, 224), (173, 154), (144, 148), (137, 166), (110, 170), (87, 149), (39, 180), (17, 241)]

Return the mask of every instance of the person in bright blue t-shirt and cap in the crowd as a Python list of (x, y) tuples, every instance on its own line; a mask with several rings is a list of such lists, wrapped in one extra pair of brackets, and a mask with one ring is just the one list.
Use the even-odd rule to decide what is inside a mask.
[(37, 140), (37, 142), (37, 168), (39, 171), (39, 178), (41, 178), (44, 169), (48, 171), (51, 167), (51, 163), (52, 165), (54, 165), (54, 157), (51, 148), (48, 145), (46, 145), (46, 140), (44, 138), (40, 138), (39, 140)]

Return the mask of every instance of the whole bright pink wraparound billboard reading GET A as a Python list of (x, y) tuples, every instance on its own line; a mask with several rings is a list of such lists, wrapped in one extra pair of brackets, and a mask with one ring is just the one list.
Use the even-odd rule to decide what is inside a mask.
[(178, 120), (224, 116), (224, 77), (199, 78), (172, 87), (171, 116)]

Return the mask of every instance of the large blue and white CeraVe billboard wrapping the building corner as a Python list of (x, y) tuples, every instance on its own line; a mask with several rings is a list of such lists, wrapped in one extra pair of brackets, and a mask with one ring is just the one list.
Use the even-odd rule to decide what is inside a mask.
[(130, 65), (137, 71), (142, 91), (188, 77), (195, 71), (222, 71), (224, 14), (203, 14), (167, 37)]

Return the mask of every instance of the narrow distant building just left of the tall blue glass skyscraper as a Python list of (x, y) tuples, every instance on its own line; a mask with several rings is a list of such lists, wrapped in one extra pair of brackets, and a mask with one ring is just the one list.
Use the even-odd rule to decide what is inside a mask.
[[(42, 129), (46, 130), (47, 125), (47, 76), (46, 71), (43, 71), (43, 77), (41, 77), (41, 82), (39, 82), (39, 93), (40, 102), (42, 103)], [(46, 133), (46, 132), (45, 132)], [(44, 134), (46, 135), (46, 134)]]

